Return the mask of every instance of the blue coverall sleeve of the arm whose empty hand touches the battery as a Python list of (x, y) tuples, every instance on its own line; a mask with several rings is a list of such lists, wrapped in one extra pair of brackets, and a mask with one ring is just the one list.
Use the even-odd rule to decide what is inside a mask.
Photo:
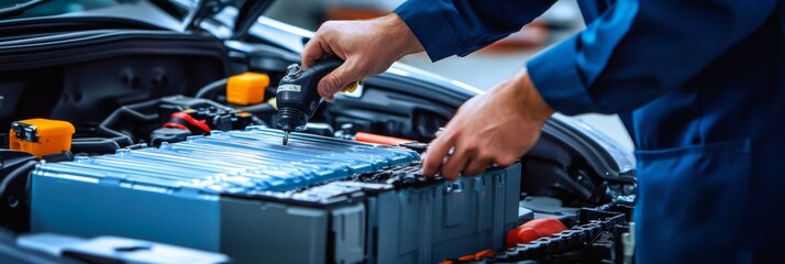
[(777, 0), (619, 0), (527, 67), (557, 111), (631, 111), (683, 86), (776, 7)]

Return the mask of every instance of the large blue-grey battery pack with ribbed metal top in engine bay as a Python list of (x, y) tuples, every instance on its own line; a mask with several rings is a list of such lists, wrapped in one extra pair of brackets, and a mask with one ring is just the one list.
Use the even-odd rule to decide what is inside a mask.
[(42, 163), (31, 229), (222, 252), (237, 263), (435, 262), (501, 248), (520, 165), (457, 182), (419, 155), (262, 128)]

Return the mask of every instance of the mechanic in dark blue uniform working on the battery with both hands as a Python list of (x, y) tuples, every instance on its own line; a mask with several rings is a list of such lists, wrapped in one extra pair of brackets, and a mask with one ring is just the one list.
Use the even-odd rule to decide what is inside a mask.
[[(384, 18), (324, 23), (302, 64), (345, 59), (319, 85), (332, 99), (407, 54), (471, 54), (553, 2), (409, 0)], [(455, 179), (509, 165), (554, 111), (619, 113), (637, 145), (639, 263), (775, 261), (785, 240), (785, 1), (578, 2), (586, 29), (464, 103), (423, 173)]]

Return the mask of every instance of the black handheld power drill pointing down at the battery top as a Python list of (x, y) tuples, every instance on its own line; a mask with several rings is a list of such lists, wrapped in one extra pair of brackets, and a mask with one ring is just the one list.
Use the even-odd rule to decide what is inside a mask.
[(317, 90), (319, 81), (341, 64), (343, 59), (331, 55), (306, 69), (297, 64), (286, 68), (286, 76), (280, 79), (276, 91), (276, 124), (284, 131), (284, 145), (289, 142), (291, 131), (306, 129), (308, 120), (324, 100)]

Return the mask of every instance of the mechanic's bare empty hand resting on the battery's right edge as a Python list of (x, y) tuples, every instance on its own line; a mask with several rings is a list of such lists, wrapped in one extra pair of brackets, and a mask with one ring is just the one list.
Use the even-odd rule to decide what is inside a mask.
[(460, 174), (480, 174), (493, 164), (509, 166), (534, 145), (553, 112), (527, 72), (520, 70), (461, 106), (442, 134), (431, 142), (423, 175), (441, 172), (453, 180)]

